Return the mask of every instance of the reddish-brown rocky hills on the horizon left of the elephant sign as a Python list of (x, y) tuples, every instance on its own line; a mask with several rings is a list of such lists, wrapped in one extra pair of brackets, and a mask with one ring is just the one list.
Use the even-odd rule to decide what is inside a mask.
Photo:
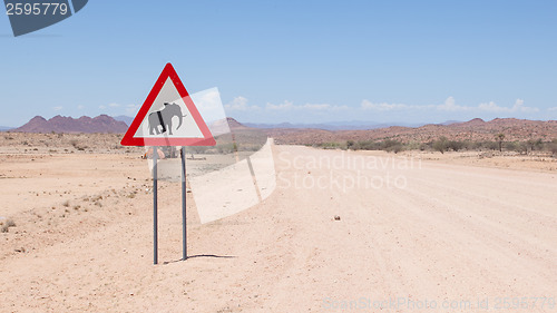
[(116, 120), (107, 115), (99, 115), (90, 118), (81, 116), (72, 118), (66, 116), (55, 116), (45, 119), (41, 116), (31, 118), (26, 125), (11, 129), (10, 131), (21, 133), (126, 133), (128, 126), (124, 121)]

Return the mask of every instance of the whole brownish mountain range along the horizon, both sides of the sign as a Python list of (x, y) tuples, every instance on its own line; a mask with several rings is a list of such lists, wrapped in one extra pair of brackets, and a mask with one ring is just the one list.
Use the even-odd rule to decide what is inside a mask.
[[(110, 117), (100, 115), (94, 118), (87, 116), (80, 118), (55, 116), (48, 120), (41, 116), (36, 116), (26, 125), (9, 129), (9, 131), (123, 134), (128, 129), (127, 123), (131, 123), (131, 118), (127, 116)], [(447, 121), (412, 127), (373, 123), (365, 125), (365, 123), (360, 121), (305, 125), (241, 124), (228, 117), (226, 120), (207, 123), (207, 126), (214, 136), (226, 134), (229, 129), (258, 128), (267, 136), (274, 137), (278, 143), (303, 145), (342, 140), (381, 140), (385, 138), (403, 141), (428, 141), (440, 136), (459, 140), (488, 140), (499, 133), (505, 134), (507, 140), (557, 138), (557, 120), (516, 118), (496, 118), (489, 121), (475, 118), (469, 121)]]

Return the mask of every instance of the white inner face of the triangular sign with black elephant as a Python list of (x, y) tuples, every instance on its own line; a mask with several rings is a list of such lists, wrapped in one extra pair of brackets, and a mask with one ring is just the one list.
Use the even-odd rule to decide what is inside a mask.
[(203, 138), (185, 101), (170, 78), (167, 78), (153, 106), (137, 128), (136, 138)]

